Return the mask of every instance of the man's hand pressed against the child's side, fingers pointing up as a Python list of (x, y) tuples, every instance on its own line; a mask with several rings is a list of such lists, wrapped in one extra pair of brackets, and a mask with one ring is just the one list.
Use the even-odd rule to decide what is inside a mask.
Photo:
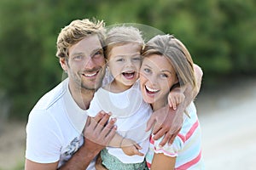
[(109, 116), (101, 111), (94, 118), (90, 116), (87, 118), (84, 127), (84, 147), (95, 155), (108, 145), (116, 132), (117, 127), (114, 126), (116, 120), (110, 119), (108, 122)]

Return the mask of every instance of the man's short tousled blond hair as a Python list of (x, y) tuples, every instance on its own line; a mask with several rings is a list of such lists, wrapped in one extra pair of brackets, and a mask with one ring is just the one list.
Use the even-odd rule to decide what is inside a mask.
[(68, 26), (61, 29), (57, 38), (57, 52), (56, 56), (59, 58), (68, 57), (68, 49), (81, 41), (84, 37), (97, 35), (102, 48), (105, 45), (106, 30), (103, 20), (73, 20)]

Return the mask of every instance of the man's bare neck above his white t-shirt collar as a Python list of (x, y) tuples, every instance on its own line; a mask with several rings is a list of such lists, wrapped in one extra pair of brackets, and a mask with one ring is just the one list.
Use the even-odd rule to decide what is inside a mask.
[(68, 85), (70, 94), (72, 95), (74, 101), (82, 110), (87, 110), (90, 106), (90, 101), (93, 98), (95, 90), (74, 88)]

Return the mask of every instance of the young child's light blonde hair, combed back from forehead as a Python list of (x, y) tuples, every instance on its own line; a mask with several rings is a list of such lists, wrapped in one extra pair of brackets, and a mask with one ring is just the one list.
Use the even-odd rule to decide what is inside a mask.
[(143, 49), (144, 41), (142, 32), (134, 26), (115, 26), (107, 32), (105, 54), (108, 58), (113, 47), (127, 43), (138, 43)]

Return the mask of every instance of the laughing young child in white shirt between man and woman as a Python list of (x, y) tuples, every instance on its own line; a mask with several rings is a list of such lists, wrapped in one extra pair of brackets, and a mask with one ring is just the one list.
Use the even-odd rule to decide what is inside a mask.
[(90, 102), (89, 116), (98, 111), (111, 112), (118, 134), (102, 150), (102, 164), (108, 169), (144, 169), (150, 132), (145, 132), (151, 115), (139, 89), (143, 38), (132, 26), (113, 27), (107, 33), (106, 56), (113, 81), (99, 88)]

